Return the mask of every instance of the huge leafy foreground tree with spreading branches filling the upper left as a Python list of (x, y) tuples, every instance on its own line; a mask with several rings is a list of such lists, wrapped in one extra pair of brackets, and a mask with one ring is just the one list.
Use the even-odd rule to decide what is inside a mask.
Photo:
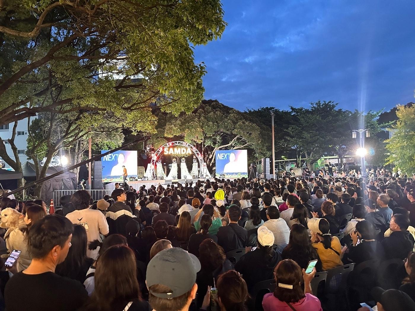
[[(103, 122), (152, 132), (152, 107), (177, 115), (200, 104), (205, 66), (193, 46), (225, 25), (220, 0), (0, 1), (0, 124), (46, 114), (41, 126), (68, 120), (74, 142), (76, 126), (84, 137)], [(46, 136), (29, 137), (30, 151)], [(66, 139), (52, 136), (48, 158)], [(2, 140), (0, 157), (19, 171)]]

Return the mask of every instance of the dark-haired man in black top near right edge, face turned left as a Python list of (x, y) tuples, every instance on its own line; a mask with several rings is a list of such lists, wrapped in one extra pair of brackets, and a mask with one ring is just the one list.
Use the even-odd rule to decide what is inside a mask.
[(408, 231), (409, 218), (407, 215), (395, 214), (391, 218), (389, 228), (392, 233), (382, 241), (386, 259), (405, 259), (414, 248), (414, 237)]

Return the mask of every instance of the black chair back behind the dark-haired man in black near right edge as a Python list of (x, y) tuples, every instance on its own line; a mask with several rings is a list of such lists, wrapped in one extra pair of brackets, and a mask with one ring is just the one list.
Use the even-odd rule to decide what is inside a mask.
[(399, 258), (385, 260), (378, 267), (378, 286), (385, 290), (391, 288), (398, 289), (405, 275), (406, 271), (403, 260)]

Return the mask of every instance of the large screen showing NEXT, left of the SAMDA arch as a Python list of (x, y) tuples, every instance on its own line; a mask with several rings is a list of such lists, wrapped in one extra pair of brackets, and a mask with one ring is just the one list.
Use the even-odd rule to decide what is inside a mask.
[[(101, 150), (101, 154), (108, 150)], [(137, 178), (137, 151), (119, 150), (101, 158), (103, 168), (103, 182), (122, 182), (124, 168), (129, 177)], [(124, 166), (124, 167), (123, 167)]]

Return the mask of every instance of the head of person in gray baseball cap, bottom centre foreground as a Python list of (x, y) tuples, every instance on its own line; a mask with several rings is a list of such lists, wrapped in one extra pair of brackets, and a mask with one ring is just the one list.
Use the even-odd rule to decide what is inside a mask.
[(198, 290), (196, 275), (199, 271), (198, 258), (186, 250), (168, 248), (157, 253), (146, 272), (149, 304), (153, 310), (189, 310)]

